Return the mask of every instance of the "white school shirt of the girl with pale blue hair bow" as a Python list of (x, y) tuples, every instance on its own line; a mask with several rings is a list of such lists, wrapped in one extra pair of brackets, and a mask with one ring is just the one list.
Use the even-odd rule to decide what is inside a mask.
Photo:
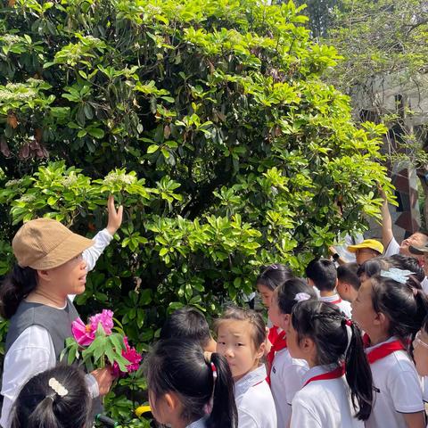
[[(396, 341), (392, 336), (386, 342)], [(383, 343), (366, 348), (366, 353)], [(422, 380), (405, 350), (396, 350), (370, 365), (373, 375), (374, 405), (366, 428), (407, 428), (403, 413), (424, 411)]]

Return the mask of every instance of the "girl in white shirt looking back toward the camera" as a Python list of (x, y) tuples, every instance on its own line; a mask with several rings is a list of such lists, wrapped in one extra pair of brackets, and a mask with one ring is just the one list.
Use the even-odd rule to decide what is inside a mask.
[(266, 347), (263, 318), (251, 309), (229, 308), (216, 325), (217, 351), (235, 381), (239, 428), (277, 428), (276, 408), (261, 363)]

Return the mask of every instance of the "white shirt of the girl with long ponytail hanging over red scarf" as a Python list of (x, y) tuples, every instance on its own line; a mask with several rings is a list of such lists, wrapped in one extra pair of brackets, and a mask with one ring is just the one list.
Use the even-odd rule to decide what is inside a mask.
[[(335, 367), (312, 367), (303, 380), (306, 383), (311, 377), (330, 372)], [(355, 414), (344, 375), (313, 381), (298, 391), (292, 400), (290, 428), (364, 428), (364, 422), (358, 421)], [(383, 425), (384, 428), (387, 426)]]

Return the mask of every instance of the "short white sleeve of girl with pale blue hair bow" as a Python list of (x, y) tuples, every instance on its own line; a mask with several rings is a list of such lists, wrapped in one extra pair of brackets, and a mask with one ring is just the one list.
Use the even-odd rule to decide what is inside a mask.
[(391, 371), (389, 377), (392, 402), (399, 413), (424, 411), (422, 385), (416, 370)]

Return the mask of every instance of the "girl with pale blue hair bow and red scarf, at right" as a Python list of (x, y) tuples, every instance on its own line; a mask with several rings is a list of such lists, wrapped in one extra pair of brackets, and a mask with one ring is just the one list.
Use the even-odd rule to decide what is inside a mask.
[(367, 428), (423, 428), (422, 385), (410, 344), (423, 324), (428, 302), (413, 272), (381, 269), (361, 284), (352, 317), (366, 332), (375, 400)]

